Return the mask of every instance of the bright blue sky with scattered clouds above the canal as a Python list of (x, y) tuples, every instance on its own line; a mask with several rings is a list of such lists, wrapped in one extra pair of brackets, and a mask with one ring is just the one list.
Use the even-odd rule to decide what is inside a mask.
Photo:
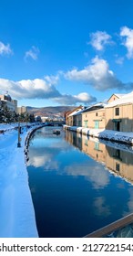
[(132, 0), (1, 0), (0, 93), (89, 105), (133, 91)]

